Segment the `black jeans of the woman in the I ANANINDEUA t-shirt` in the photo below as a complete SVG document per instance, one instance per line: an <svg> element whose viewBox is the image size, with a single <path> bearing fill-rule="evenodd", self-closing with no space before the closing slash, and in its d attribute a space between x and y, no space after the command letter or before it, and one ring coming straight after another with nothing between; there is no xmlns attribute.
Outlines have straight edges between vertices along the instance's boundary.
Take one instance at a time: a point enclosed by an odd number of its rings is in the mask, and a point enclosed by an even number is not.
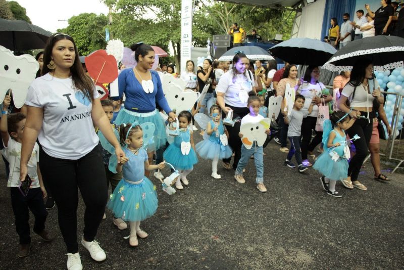
<svg viewBox="0 0 404 270"><path fill-rule="evenodd" d="M86 206L84 240L94 240L107 204L107 177L101 153L94 148L82 158L71 160L51 157L41 150L40 157L42 175L48 179L58 205L59 227L67 252L77 253L77 187Z"/></svg>

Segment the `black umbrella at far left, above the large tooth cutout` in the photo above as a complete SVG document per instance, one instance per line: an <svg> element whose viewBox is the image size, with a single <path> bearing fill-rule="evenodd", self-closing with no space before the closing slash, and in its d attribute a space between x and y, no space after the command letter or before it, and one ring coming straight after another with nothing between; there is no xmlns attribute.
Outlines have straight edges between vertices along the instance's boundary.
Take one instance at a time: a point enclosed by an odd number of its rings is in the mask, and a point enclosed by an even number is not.
<svg viewBox="0 0 404 270"><path fill-rule="evenodd" d="M11 51L26 51L43 49L51 32L23 20L0 19L0 36L1 46Z"/></svg>

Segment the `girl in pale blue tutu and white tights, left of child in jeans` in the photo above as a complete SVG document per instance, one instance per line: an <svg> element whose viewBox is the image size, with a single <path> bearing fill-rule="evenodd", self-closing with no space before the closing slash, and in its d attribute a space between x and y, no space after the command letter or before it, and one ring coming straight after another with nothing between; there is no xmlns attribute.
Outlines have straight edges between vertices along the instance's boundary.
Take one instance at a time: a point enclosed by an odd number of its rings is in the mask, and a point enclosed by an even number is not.
<svg viewBox="0 0 404 270"><path fill-rule="evenodd" d="M212 177L220 179L218 174L219 159L229 158L233 151L227 144L227 135L223 122L220 119L222 111L219 106L212 105L211 107L212 120L208 123L206 133L210 135L209 139L196 144L196 152L205 159L212 159ZM226 138L224 138L226 137Z"/></svg>

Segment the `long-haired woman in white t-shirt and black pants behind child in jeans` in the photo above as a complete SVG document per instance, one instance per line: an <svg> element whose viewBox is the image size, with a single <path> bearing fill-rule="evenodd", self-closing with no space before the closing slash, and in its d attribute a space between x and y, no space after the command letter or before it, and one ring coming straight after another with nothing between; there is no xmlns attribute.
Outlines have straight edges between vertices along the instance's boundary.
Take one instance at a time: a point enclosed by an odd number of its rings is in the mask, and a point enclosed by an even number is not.
<svg viewBox="0 0 404 270"><path fill-rule="evenodd" d="M241 157L241 140L238 137L240 131L240 120L248 114L247 100L248 92L254 87L254 80L247 75L248 59L243 53L237 53L233 58L232 69L224 73L220 78L219 84L216 86L217 101L222 109L223 118L229 110L233 110L234 126L226 125L229 132L229 145L234 151L233 168L237 168L238 161ZM230 160L223 159L223 166L230 169Z"/></svg>

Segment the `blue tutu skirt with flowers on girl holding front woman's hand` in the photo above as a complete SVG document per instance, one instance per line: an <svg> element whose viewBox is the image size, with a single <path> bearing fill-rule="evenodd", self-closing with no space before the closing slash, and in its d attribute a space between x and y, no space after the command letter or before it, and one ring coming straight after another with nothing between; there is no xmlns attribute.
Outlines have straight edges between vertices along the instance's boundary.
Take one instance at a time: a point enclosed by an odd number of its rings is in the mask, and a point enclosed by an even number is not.
<svg viewBox="0 0 404 270"><path fill-rule="evenodd" d="M140 184L122 179L110 195L107 207L125 221L141 221L156 213L158 202L156 186L144 176Z"/></svg>

